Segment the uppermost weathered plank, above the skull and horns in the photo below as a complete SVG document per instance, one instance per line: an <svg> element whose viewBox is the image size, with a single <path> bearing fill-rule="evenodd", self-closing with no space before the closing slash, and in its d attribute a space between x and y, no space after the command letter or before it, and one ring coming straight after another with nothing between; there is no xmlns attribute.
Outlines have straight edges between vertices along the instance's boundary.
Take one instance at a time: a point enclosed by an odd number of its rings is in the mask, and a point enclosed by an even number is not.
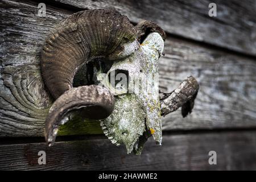
<svg viewBox="0 0 256 182"><path fill-rule="evenodd" d="M55 0L81 9L114 7L130 20L158 23L166 32L200 42L256 55L256 2L251 1L93 1ZM217 16L208 15L216 3Z"/></svg>

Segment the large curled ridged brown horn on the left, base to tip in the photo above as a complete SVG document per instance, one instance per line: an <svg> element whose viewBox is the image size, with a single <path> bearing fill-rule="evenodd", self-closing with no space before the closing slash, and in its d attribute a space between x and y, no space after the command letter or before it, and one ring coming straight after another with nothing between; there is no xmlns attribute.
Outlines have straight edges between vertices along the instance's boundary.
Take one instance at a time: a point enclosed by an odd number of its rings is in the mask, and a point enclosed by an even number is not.
<svg viewBox="0 0 256 182"><path fill-rule="evenodd" d="M112 113L114 98L107 89L96 85L73 88L73 77L90 60L116 57L112 55L120 53L123 45L135 38L135 28L126 16L104 9L75 13L49 35L41 61L44 82L57 99L46 118L49 145L70 111L82 109L89 119L104 119Z"/></svg>

